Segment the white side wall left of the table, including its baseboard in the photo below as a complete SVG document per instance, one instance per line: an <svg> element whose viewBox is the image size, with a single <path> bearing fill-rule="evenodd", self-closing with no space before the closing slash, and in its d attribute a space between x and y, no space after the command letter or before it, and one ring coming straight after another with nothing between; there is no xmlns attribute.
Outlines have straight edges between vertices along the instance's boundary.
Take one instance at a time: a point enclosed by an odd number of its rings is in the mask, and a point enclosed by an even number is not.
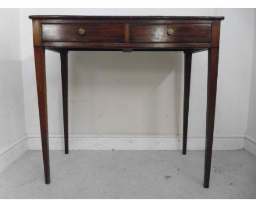
<svg viewBox="0 0 256 208"><path fill-rule="evenodd" d="M1 171L27 148L26 136L24 136L26 128L20 54L19 9L0 9L0 26Z"/></svg>

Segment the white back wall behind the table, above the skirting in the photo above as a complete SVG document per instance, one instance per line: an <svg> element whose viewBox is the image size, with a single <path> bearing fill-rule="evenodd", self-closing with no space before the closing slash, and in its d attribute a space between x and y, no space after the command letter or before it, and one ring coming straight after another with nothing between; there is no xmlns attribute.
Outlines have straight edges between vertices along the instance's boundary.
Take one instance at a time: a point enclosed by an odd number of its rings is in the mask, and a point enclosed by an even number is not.
<svg viewBox="0 0 256 208"><path fill-rule="evenodd" d="M254 13L253 9L21 9L28 137L38 138L40 133L32 21L28 15L225 16L221 27L214 133L219 138L243 139L247 127ZM74 137L181 135L183 62L184 56L179 52L69 52L69 133ZM49 134L54 137L63 134L58 53L46 52L46 77ZM198 138L205 135L206 77L207 52L196 53L192 63L188 134ZM241 145L237 148L242 148Z"/></svg>

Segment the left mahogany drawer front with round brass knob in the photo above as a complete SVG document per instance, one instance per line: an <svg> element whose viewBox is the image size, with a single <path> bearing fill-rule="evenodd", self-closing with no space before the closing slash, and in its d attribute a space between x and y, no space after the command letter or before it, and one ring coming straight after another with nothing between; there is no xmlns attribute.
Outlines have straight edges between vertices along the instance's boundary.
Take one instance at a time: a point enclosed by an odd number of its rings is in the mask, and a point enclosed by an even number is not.
<svg viewBox="0 0 256 208"><path fill-rule="evenodd" d="M124 25L42 24L42 41L124 42Z"/></svg>

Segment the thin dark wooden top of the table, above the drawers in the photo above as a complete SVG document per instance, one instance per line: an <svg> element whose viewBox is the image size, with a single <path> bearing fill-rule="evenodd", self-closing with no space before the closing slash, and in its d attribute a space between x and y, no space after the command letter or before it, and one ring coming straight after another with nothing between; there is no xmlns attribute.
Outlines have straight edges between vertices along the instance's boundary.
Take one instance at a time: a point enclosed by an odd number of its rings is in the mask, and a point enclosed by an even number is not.
<svg viewBox="0 0 256 208"><path fill-rule="evenodd" d="M147 20L224 20L224 16L82 16L82 15L30 15L30 19L147 19Z"/></svg>

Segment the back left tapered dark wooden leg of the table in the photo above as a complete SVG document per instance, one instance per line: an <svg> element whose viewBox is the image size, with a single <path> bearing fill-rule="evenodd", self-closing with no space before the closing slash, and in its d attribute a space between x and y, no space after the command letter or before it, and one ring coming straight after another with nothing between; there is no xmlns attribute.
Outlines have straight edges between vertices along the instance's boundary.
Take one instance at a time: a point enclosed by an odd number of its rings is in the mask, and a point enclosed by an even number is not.
<svg viewBox="0 0 256 208"><path fill-rule="evenodd" d="M67 52L61 52L62 105L65 154L68 154L68 58Z"/></svg>

